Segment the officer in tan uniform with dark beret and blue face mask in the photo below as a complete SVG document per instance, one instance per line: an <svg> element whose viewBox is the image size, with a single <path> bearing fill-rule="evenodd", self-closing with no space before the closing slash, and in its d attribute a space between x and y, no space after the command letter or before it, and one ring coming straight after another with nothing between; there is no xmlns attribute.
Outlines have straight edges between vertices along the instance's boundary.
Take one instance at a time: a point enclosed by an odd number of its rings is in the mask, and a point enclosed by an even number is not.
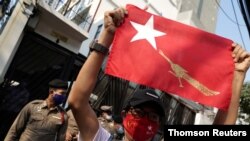
<svg viewBox="0 0 250 141"><path fill-rule="evenodd" d="M59 105L66 99L68 84L49 82L46 100L34 100L19 113L4 141L65 141L68 117Z"/></svg>

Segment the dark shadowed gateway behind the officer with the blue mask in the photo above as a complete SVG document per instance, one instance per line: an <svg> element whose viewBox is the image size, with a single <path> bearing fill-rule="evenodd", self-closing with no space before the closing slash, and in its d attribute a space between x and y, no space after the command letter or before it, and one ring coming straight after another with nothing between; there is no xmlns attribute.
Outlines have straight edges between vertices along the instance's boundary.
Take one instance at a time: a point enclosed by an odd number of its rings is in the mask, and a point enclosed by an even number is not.
<svg viewBox="0 0 250 141"><path fill-rule="evenodd" d="M47 98L49 81L74 81L85 60L34 32L26 32L0 86L0 140L23 106Z"/></svg>

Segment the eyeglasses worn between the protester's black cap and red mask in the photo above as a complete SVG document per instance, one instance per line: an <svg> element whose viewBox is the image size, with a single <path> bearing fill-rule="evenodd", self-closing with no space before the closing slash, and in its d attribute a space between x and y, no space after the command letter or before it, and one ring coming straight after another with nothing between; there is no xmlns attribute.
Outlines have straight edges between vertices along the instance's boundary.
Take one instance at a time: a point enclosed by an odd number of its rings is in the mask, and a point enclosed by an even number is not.
<svg viewBox="0 0 250 141"><path fill-rule="evenodd" d="M160 117L158 114L154 113L154 112L147 112L143 109L140 108L130 108L130 113L136 117L136 118L142 118L144 116L147 115L148 119L154 122L159 122L160 121Z"/></svg>

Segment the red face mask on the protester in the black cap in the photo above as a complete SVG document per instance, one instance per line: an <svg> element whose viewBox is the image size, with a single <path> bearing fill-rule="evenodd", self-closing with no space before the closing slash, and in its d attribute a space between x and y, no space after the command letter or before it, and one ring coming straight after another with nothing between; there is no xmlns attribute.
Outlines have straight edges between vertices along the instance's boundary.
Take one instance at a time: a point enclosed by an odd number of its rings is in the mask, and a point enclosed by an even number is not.
<svg viewBox="0 0 250 141"><path fill-rule="evenodd" d="M137 118L131 114L126 115L123 125L135 141L145 141L152 138L159 128L159 124L149 120L147 116Z"/></svg>

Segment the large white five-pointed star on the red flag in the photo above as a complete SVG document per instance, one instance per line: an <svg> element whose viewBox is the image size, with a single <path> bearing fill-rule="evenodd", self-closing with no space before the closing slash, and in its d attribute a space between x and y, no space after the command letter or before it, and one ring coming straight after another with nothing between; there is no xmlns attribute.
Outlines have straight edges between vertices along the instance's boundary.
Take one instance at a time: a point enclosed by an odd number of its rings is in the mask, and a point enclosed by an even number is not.
<svg viewBox="0 0 250 141"><path fill-rule="evenodd" d="M152 47L156 50L155 37L166 35L166 33L154 29L153 16L149 18L145 25L138 24L130 21L132 26L137 30L137 34L131 39L130 42L146 39Z"/></svg>

